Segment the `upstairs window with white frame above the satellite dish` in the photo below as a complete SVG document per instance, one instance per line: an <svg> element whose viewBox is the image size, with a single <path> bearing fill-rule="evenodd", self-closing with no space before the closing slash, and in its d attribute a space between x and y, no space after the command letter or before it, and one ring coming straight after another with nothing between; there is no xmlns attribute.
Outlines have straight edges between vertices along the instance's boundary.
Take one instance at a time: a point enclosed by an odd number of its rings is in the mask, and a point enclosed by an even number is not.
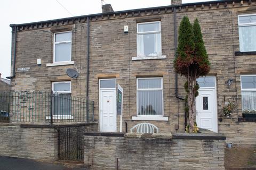
<svg viewBox="0 0 256 170"><path fill-rule="evenodd" d="M71 61L71 33L54 33L53 63Z"/></svg>

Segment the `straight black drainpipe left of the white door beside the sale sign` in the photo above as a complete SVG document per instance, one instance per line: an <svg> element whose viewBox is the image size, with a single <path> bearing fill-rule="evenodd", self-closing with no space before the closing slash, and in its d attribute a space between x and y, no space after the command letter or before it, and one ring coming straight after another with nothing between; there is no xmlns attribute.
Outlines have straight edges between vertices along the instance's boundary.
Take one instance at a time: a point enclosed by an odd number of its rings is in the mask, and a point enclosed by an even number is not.
<svg viewBox="0 0 256 170"><path fill-rule="evenodd" d="M86 78L86 120L89 121L89 59L90 59L90 23L87 17L87 78Z"/></svg>

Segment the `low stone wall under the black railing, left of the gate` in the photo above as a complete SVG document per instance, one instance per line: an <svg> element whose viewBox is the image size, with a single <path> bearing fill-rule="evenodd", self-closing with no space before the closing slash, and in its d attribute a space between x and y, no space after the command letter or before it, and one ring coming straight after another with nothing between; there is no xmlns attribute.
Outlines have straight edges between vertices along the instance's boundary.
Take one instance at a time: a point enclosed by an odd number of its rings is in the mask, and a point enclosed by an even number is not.
<svg viewBox="0 0 256 170"><path fill-rule="evenodd" d="M84 126L85 132L98 130L97 123ZM1 156L58 159L58 125L0 123L0 137Z"/></svg>

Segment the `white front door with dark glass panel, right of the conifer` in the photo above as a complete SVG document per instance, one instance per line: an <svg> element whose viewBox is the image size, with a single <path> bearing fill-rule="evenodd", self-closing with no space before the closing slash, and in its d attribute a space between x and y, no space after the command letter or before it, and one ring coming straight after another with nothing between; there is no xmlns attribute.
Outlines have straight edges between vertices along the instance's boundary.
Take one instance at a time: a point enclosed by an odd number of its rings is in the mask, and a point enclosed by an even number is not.
<svg viewBox="0 0 256 170"><path fill-rule="evenodd" d="M215 77L197 79L196 123L199 128L218 132L217 97Z"/></svg>

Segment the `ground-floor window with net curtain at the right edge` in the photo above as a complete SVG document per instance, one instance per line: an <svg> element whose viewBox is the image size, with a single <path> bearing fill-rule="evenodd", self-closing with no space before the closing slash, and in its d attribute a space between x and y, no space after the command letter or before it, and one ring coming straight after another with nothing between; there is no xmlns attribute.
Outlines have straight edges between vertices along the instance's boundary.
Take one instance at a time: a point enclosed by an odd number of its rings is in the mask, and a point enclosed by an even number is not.
<svg viewBox="0 0 256 170"><path fill-rule="evenodd" d="M256 75L241 75L243 112L256 111Z"/></svg>

